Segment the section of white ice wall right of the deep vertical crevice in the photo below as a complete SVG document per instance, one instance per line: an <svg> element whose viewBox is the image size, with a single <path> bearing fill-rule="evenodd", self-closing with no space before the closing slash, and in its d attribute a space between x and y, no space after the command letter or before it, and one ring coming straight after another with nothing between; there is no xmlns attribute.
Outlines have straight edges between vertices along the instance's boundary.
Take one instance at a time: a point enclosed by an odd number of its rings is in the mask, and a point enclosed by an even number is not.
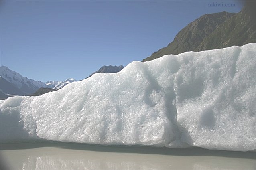
<svg viewBox="0 0 256 170"><path fill-rule="evenodd" d="M254 43L204 51L189 62L192 66L180 69L177 121L189 134L184 140L190 145L220 150L256 148L255 49ZM190 95L184 93L193 89Z"/></svg>

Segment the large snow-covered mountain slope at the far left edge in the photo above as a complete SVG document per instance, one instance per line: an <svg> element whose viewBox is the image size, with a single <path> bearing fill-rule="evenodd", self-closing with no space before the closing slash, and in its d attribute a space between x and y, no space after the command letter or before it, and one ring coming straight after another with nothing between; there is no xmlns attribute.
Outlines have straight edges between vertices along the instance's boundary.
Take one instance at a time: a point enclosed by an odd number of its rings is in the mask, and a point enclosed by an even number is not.
<svg viewBox="0 0 256 170"><path fill-rule="evenodd" d="M0 66L0 77L4 82L7 81L12 86L16 87L16 89L18 89L18 91L15 90L13 91L13 93L10 93L12 91L4 91L3 89L6 89L8 87L3 87L4 84L1 83L0 89L2 89L4 93L9 93L12 95L29 95L37 91L40 87L47 87L45 83L23 77L19 73L10 70L6 66Z"/></svg>

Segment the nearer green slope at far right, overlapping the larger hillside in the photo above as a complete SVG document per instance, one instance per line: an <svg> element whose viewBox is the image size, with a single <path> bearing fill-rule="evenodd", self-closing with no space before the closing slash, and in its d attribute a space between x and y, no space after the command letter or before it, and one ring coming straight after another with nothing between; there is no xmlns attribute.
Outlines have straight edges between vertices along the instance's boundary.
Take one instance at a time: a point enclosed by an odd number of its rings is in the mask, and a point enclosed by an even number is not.
<svg viewBox="0 0 256 170"><path fill-rule="evenodd" d="M256 42L256 22L252 20L252 17L244 8L241 12L221 24L195 50L204 51L233 45L242 46L254 42Z"/></svg>

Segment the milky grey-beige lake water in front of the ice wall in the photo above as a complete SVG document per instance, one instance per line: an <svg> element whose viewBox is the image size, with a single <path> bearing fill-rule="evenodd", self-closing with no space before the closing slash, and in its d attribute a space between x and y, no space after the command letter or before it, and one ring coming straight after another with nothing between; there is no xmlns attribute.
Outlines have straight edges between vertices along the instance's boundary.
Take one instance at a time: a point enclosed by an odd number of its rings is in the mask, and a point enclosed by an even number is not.
<svg viewBox="0 0 256 170"><path fill-rule="evenodd" d="M0 160L1 169L256 169L256 152L69 142L0 143Z"/></svg>

